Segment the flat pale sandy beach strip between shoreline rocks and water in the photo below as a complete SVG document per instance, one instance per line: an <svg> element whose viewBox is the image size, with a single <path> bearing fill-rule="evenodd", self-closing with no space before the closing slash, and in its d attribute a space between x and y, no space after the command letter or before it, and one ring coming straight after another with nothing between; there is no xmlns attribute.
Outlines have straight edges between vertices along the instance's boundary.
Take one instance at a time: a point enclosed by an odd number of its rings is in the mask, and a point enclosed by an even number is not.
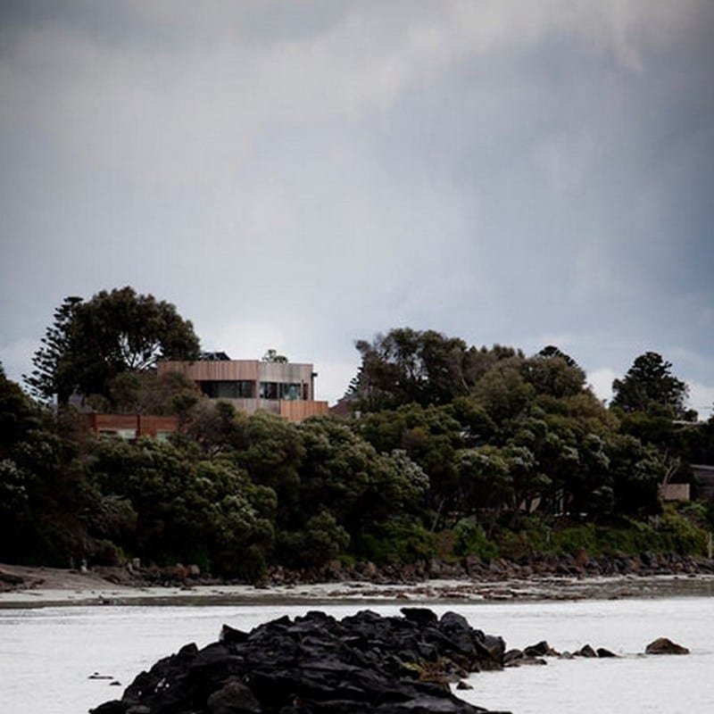
<svg viewBox="0 0 714 714"><path fill-rule="evenodd" d="M102 605L260 605L336 602L529 602L714 596L714 574L544 575L434 578L413 582L344 580L309 584L116 584L88 571L0 565L19 578L0 592L0 609ZM7 580L5 580L7 582Z"/></svg>

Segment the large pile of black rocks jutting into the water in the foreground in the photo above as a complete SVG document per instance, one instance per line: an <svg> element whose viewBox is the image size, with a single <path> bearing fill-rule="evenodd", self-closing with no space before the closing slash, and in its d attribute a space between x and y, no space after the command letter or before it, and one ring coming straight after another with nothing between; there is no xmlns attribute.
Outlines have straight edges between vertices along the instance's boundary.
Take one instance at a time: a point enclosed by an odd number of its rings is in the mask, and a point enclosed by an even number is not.
<svg viewBox="0 0 714 714"><path fill-rule="evenodd" d="M187 644L93 714L474 714L449 682L500 669L501 637L453 612L369 610L276 619L250 633L224 626L220 641Z"/></svg>

